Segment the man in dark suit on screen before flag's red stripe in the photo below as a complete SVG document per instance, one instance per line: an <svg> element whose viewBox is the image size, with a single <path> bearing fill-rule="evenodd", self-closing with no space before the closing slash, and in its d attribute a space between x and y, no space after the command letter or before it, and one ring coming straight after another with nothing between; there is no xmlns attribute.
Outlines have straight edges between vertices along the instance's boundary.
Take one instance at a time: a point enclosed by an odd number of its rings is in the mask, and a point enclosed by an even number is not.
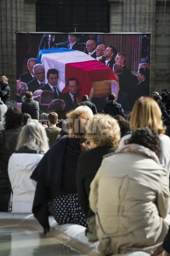
<svg viewBox="0 0 170 256"><path fill-rule="evenodd" d="M78 95L78 81L76 78L69 78L66 81L68 93L63 95L63 100L65 101L65 109L70 110L73 109L73 106L78 103L77 95Z"/></svg>

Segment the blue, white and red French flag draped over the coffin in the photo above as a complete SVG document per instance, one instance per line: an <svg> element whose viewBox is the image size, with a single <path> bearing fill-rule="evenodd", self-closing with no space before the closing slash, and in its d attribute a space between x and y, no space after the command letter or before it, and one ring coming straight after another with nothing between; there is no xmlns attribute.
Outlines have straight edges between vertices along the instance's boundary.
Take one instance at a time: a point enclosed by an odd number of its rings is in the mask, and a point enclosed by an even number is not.
<svg viewBox="0 0 170 256"><path fill-rule="evenodd" d="M70 77L76 78L79 82L79 102L82 100L82 95L90 95L94 82L116 80L111 68L78 50L67 48L40 50L37 56L38 63L45 67L45 79L49 68L58 70L58 85L63 93L68 91L66 80ZM47 79L45 82L47 83ZM108 92L105 94L105 88L102 91L103 96L108 96ZM114 93L117 94L116 92L118 93L117 86Z"/></svg>

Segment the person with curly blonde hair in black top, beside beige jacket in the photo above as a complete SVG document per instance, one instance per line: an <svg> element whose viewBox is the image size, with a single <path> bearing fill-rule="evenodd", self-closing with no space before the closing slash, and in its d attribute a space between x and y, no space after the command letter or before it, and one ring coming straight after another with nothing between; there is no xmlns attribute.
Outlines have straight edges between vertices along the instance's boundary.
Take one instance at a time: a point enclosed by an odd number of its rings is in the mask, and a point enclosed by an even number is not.
<svg viewBox="0 0 170 256"><path fill-rule="evenodd" d="M97 125L96 130L92 132L94 123ZM103 127L103 129L101 129ZM107 127L107 132L105 128ZM86 236L89 241L96 239L91 233L96 234L94 212L89 207L90 183L101 165L103 156L115 151L120 140L120 128L115 119L105 114L95 114L89 126L89 136L91 150L82 152L77 162L77 190L78 201L87 219L88 229ZM97 161L96 161L97 156Z"/></svg>

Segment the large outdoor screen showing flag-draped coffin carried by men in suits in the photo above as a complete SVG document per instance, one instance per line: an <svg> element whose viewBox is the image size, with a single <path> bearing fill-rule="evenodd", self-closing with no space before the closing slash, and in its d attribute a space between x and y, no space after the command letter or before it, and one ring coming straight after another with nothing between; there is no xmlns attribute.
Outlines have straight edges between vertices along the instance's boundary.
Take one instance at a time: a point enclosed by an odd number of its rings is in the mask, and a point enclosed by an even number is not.
<svg viewBox="0 0 170 256"><path fill-rule="evenodd" d="M53 47L48 49L52 46L49 35L50 33L16 33L16 79L27 84L26 90L32 91L33 98L39 102L42 112L73 109L72 105L75 102L70 96L70 83L66 84L67 79L70 78L76 79L77 103L82 101L83 95L88 95L97 110L104 109L110 93L116 94L116 101L122 105L124 111L130 111L138 97L149 96L150 33L74 33L74 37L77 38L76 49L75 47L69 49L68 33L54 33L55 38L51 42ZM105 45L106 53L100 61L96 59L96 50L93 56L89 55L88 49L93 47L92 40L96 42L96 47ZM87 45L89 46L86 47ZM115 50L111 48L112 46ZM108 48L109 53L107 53ZM110 53L113 53L112 61L108 64L111 60ZM100 54L98 53L98 56ZM31 76L31 67L29 70L27 68L28 60L32 58L36 59L36 64L43 65L40 72L36 71L36 77ZM113 66L115 61L116 66ZM33 63L35 64L35 61ZM120 64L123 70L118 69ZM142 64L140 70L141 72L144 70L144 74L138 71L139 64ZM53 88L54 83L49 86L51 83L51 73L50 76L47 73L49 69L50 72L51 69L58 71L58 80L52 74L57 81L57 96ZM19 87L16 91L17 106L21 108L25 91L19 93Z"/></svg>

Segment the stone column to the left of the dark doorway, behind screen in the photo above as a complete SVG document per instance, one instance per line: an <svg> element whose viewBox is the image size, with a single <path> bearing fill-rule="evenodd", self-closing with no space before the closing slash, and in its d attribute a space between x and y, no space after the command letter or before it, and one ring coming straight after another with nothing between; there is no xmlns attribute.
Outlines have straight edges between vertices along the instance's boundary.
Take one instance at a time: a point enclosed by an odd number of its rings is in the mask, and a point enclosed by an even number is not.
<svg viewBox="0 0 170 256"><path fill-rule="evenodd" d="M25 7L28 8L28 4L31 2L31 7L34 10L36 0L6 0L0 1L0 74L6 75L9 78L9 86L11 87L11 100L15 99L16 95L16 34L15 31L25 31L27 28L36 30L35 14L34 18L28 19L26 25ZM31 17L31 16L30 16ZM34 25L33 25L34 23Z"/></svg>

